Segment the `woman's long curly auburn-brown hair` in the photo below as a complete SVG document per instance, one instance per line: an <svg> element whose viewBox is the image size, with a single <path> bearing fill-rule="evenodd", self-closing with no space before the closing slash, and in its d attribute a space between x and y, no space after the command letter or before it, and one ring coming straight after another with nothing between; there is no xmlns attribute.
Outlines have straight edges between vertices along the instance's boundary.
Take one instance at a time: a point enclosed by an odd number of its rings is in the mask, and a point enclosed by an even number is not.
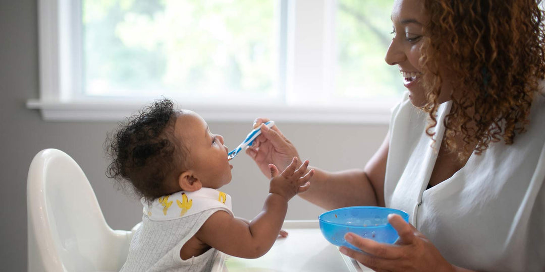
<svg viewBox="0 0 545 272"><path fill-rule="evenodd" d="M421 71L429 114L435 114L443 82L439 67L456 80L445 145L467 159L503 139L512 144L529 123L530 106L545 76L543 13L534 0L425 0ZM470 123L476 125L470 126ZM463 135L463 146L455 136Z"/></svg>

